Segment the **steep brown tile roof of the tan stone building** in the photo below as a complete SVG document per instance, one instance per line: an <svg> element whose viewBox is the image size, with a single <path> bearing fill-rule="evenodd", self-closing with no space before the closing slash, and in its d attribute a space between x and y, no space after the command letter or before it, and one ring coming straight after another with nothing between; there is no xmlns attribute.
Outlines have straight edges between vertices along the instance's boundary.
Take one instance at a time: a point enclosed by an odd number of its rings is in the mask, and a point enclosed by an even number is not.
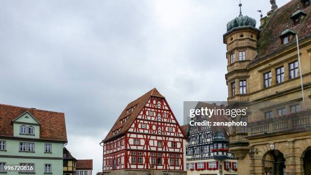
<svg viewBox="0 0 311 175"><path fill-rule="evenodd" d="M303 10L307 16L301 20L300 24L293 26L293 22L290 17L298 10L298 4L301 7L300 10ZM310 11L310 6L305 9L302 8L300 0L292 0L274 11L269 22L265 25L264 28L262 28L260 38L258 40L258 55L256 59L253 60L253 62L256 62L263 57L266 57L277 51L281 51L282 49L292 44L296 44L296 39L294 39L292 42L282 45L280 36L281 33L286 30L287 23L289 23L289 29L295 31L295 33L298 35L299 40L311 37Z"/></svg>

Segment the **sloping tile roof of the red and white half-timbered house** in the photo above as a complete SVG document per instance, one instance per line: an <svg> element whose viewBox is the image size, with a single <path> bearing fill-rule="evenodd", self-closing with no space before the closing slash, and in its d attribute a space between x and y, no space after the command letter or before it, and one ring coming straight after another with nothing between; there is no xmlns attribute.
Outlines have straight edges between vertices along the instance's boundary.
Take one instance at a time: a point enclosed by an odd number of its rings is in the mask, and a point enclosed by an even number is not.
<svg viewBox="0 0 311 175"><path fill-rule="evenodd" d="M149 92L147 92L146 94L142 95L141 97L139 97L138 99L132 101L131 103L129 103L127 105L127 107L122 111L122 113L120 114L119 118L116 120L115 124L113 125L113 127L111 128L111 130L109 131L109 133L107 134L106 138L103 140L103 142L107 142L109 141L111 138L123 135L126 131L129 130L129 128L131 127L132 123L135 121L135 119L137 118L138 114L140 113L140 111L143 109L143 107L145 106L145 104L148 102L150 97L160 97L160 98L165 98L164 96L162 96L159 91L157 89L152 89ZM127 110L135 107L135 109L130 112L127 113ZM129 119L127 120L127 122L123 122L121 124L121 120L123 118L125 118L126 116L129 116ZM117 129L120 129L120 132L118 134L113 135L113 131L116 131Z"/></svg>

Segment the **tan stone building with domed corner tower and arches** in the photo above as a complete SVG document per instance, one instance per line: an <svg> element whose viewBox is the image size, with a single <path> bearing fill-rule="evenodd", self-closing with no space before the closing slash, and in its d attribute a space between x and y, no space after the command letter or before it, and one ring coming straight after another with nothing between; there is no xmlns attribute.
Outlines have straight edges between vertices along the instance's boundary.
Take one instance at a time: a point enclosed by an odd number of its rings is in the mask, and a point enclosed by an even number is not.
<svg viewBox="0 0 311 175"><path fill-rule="evenodd" d="M259 28L240 13L224 34L228 103L248 123L230 128L229 148L239 174L311 174L310 1L270 2Z"/></svg>

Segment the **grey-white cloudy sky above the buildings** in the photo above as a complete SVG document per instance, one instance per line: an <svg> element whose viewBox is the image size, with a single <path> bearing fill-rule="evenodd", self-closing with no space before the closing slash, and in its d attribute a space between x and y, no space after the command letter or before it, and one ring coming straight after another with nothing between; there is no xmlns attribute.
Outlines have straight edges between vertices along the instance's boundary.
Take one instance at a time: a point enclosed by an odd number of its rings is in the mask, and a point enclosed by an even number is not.
<svg viewBox="0 0 311 175"><path fill-rule="evenodd" d="M277 0L281 7L289 0ZM260 23L269 0L243 0ZM123 108L156 87L179 123L183 101L222 101L235 0L1 1L0 103L65 112L68 149L102 168Z"/></svg>

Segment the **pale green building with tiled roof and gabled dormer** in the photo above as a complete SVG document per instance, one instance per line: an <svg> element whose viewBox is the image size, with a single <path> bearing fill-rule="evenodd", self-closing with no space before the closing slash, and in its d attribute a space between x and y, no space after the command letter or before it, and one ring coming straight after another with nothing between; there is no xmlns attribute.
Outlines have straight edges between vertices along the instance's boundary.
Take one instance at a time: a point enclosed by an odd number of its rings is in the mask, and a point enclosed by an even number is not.
<svg viewBox="0 0 311 175"><path fill-rule="evenodd" d="M66 143L64 113L0 104L0 174L63 174Z"/></svg>

